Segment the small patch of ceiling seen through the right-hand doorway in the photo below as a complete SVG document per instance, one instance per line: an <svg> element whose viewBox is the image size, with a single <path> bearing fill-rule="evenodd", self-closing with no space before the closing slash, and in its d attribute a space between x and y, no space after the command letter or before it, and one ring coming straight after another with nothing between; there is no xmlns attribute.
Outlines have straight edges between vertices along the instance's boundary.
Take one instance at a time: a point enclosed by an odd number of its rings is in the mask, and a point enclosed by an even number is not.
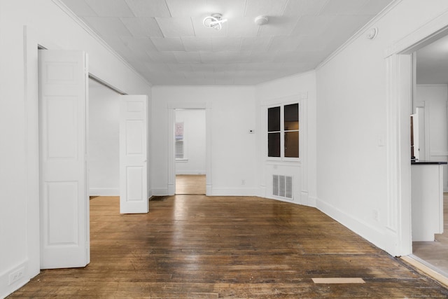
<svg viewBox="0 0 448 299"><path fill-rule="evenodd" d="M417 51L416 83L448 84L448 36Z"/></svg>

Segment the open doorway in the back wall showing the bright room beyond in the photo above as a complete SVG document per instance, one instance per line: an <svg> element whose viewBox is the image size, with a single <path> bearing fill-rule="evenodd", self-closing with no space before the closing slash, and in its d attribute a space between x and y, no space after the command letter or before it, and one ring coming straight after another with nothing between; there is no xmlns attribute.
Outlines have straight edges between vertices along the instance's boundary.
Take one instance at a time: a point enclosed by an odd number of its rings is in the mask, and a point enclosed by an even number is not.
<svg viewBox="0 0 448 299"><path fill-rule="evenodd" d="M176 195L207 193L205 109L174 109Z"/></svg>

